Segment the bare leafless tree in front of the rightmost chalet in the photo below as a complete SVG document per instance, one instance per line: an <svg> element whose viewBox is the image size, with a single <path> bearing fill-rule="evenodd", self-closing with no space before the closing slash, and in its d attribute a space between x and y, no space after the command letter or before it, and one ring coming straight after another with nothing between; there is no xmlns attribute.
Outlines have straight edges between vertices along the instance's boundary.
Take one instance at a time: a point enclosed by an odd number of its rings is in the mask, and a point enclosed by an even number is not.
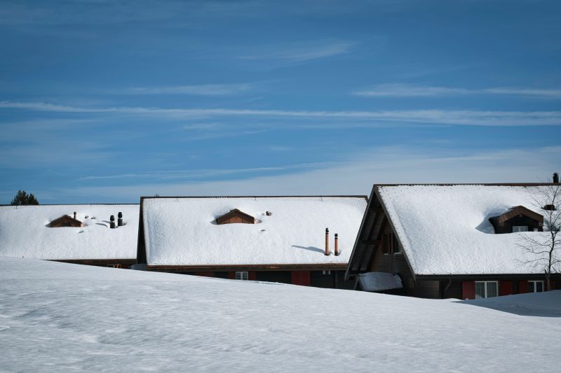
<svg viewBox="0 0 561 373"><path fill-rule="evenodd" d="M561 184L532 188L529 194L534 207L543 215L543 233L524 234L520 247L532 254L532 259L526 260L524 264L543 269L547 290L551 290L551 274L559 272L561 263Z"/></svg>

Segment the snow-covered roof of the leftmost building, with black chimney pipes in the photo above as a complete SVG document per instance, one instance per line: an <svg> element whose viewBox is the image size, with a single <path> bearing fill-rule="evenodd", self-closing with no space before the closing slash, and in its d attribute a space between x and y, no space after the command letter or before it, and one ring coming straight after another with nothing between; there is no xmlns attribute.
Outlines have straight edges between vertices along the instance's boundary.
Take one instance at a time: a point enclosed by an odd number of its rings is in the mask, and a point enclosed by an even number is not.
<svg viewBox="0 0 561 373"><path fill-rule="evenodd" d="M138 205L0 206L0 255L48 260L135 259ZM84 227L49 227L63 215ZM123 213L125 225L109 228ZM86 218L88 216L88 218Z"/></svg>

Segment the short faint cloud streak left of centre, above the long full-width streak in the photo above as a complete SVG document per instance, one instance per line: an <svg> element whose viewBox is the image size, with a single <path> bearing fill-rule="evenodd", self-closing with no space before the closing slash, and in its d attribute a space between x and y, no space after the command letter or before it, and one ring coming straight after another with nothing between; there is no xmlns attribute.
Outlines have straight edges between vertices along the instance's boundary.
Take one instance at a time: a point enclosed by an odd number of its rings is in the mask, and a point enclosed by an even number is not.
<svg viewBox="0 0 561 373"><path fill-rule="evenodd" d="M225 96L240 94L252 89L249 83L243 84L203 84L178 85L175 87L133 87L126 90L111 91L116 94L188 94L193 96Z"/></svg>

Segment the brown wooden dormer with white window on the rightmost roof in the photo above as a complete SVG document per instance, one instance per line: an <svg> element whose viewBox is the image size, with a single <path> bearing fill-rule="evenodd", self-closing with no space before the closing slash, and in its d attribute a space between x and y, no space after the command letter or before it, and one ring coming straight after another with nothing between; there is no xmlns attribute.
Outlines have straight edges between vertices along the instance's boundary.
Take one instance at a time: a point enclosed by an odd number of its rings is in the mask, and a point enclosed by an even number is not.
<svg viewBox="0 0 561 373"><path fill-rule="evenodd" d="M543 231L543 216L524 206L515 206L506 213L489 218L495 233Z"/></svg>

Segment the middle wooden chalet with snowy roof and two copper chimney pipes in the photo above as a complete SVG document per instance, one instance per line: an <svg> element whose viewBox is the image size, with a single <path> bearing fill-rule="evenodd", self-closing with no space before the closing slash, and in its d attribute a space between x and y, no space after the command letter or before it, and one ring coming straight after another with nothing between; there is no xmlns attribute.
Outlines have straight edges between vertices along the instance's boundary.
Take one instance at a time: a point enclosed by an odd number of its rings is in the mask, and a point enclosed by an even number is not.
<svg viewBox="0 0 561 373"><path fill-rule="evenodd" d="M366 196L142 197L138 267L352 288L344 271L366 204Z"/></svg>

